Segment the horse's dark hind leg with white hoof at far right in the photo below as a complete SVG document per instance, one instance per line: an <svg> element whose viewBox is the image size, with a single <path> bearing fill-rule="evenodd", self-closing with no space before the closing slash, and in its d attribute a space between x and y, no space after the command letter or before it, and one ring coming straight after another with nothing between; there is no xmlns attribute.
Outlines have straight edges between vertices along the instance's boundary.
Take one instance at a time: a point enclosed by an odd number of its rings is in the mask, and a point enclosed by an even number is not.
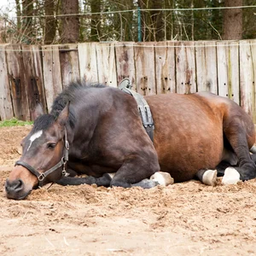
<svg viewBox="0 0 256 256"><path fill-rule="evenodd" d="M222 183L237 183L239 180L245 181L256 177L256 165L248 148L248 135L240 121L233 119L228 127L224 128L224 135L237 156L238 167L228 167L224 172Z"/></svg>

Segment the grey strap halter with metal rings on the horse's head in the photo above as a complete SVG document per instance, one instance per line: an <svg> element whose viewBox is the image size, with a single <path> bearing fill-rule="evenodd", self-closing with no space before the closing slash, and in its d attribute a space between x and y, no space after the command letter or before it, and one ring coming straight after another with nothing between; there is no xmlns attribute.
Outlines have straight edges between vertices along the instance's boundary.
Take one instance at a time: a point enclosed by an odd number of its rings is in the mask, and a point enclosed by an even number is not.
<svg viewBox="0 0 256 256"><path fill-rule="evenodd" d="M62 177L67 176L67 172L66 172L66 163L68 160L68 149L69 149L69 143L67 141L67 130L65 128L65 135L64 135L64 153L63 153L63 157L61 158L61 160L53 167L51 167L49 170L47 170L46 172L38 172L34 167L30 166L29 164L27 164L24 161L16 161L15 162L15 166L23 166L25 167L29 172L31 172L33 175L35 175L36 177L38 177L38 183L39 183L39 187L43 187L43 181L44 178L47 177L50 173L55 172L55 170L57 170L58 168L60 168L61 166L63 166L62 169Z"/></svg>

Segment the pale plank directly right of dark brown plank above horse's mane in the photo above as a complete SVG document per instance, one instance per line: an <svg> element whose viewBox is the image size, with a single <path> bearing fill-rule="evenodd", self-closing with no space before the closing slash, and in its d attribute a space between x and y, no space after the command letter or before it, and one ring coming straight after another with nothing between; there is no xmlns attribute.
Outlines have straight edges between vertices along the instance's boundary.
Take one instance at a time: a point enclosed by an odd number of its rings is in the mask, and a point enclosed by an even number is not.
<svg viewBox="0 0 256 256"><path fill-rule="evenodd" d="M98 68L96 58L96 44L78 44L80 79L88 82L98 82Z"/></svg>

